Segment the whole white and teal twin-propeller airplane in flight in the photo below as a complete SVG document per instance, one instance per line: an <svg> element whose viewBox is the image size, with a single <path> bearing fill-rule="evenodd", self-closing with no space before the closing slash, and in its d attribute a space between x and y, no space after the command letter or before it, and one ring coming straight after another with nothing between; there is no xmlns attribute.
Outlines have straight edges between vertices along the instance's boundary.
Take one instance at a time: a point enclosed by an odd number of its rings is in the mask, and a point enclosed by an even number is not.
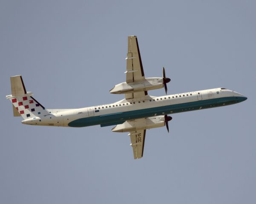
<svg viewBox="0 0 256 204"><path fill-rule="evenodd" d="M115 85L111 94L124 94L118 102L77 109L46 109L27 92L21 75L11 77L12 95L6 96L13 105L13 115L22 116L22 124L62 127L112 126L113 132L129 132L134 159L143 157L146 130L167 127L169 114L232 105L246 96L226 88L190 91L166 96L150 96L148 91L164 88L170 79L145 78L136 36L128 36L126 82Z"/></svg>

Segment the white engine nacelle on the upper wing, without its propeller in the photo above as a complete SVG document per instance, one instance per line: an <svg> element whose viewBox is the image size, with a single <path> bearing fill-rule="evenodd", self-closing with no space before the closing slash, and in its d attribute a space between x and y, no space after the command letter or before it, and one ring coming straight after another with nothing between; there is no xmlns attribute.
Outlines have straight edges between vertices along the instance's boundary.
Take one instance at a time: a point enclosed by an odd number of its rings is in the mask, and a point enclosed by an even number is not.
<svg viewBox="0 0 256 204"><path fill-rule="evenodd" d="M111 94L128 94L139 91L149 91L153 89L163 88L162 77L145 78L141 82L123 82L115 85L109 92Z"/></svg>

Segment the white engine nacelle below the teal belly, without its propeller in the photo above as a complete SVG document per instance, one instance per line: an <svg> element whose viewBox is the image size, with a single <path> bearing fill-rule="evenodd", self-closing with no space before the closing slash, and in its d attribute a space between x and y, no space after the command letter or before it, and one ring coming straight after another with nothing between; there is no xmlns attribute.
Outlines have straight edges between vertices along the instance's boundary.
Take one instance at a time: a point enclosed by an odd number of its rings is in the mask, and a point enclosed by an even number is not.
<svg viewBox="0 0 256 204"><path fill-rule="evenodd" d="M165 125L164 116L154 116L149 118L141 118L129 120L123 124L116 125L113 132L130 132L135 130L146 130L155 127L163 127Z"/></svg>

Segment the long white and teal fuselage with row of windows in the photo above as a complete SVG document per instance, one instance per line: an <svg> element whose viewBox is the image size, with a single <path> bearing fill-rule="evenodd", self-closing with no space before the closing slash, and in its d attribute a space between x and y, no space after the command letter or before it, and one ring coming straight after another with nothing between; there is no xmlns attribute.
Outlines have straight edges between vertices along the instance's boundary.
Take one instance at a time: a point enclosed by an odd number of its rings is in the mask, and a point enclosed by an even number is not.
<svg viewBox="0 0 256 204"><path fill-rule="evenodd" d="M231 105L247 98L235 91L214 88L168 96L121 101L78 109L48 109L49 114L23 120L28 125L85 127L115 125L141 117L157 116L203 108Z"/></svg>

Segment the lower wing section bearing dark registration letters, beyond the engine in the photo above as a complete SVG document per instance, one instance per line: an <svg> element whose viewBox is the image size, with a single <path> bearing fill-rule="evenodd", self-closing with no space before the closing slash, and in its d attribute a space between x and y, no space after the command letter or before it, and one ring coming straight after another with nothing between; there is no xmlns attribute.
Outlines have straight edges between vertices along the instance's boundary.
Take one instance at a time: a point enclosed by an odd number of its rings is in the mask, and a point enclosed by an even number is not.
<svg viewBox="0 0 256 204"><path fill-rule="evenodd" d="M130 132L131 146L134 159L140 159L143 156L146 130L136 130Z"/></svg>

